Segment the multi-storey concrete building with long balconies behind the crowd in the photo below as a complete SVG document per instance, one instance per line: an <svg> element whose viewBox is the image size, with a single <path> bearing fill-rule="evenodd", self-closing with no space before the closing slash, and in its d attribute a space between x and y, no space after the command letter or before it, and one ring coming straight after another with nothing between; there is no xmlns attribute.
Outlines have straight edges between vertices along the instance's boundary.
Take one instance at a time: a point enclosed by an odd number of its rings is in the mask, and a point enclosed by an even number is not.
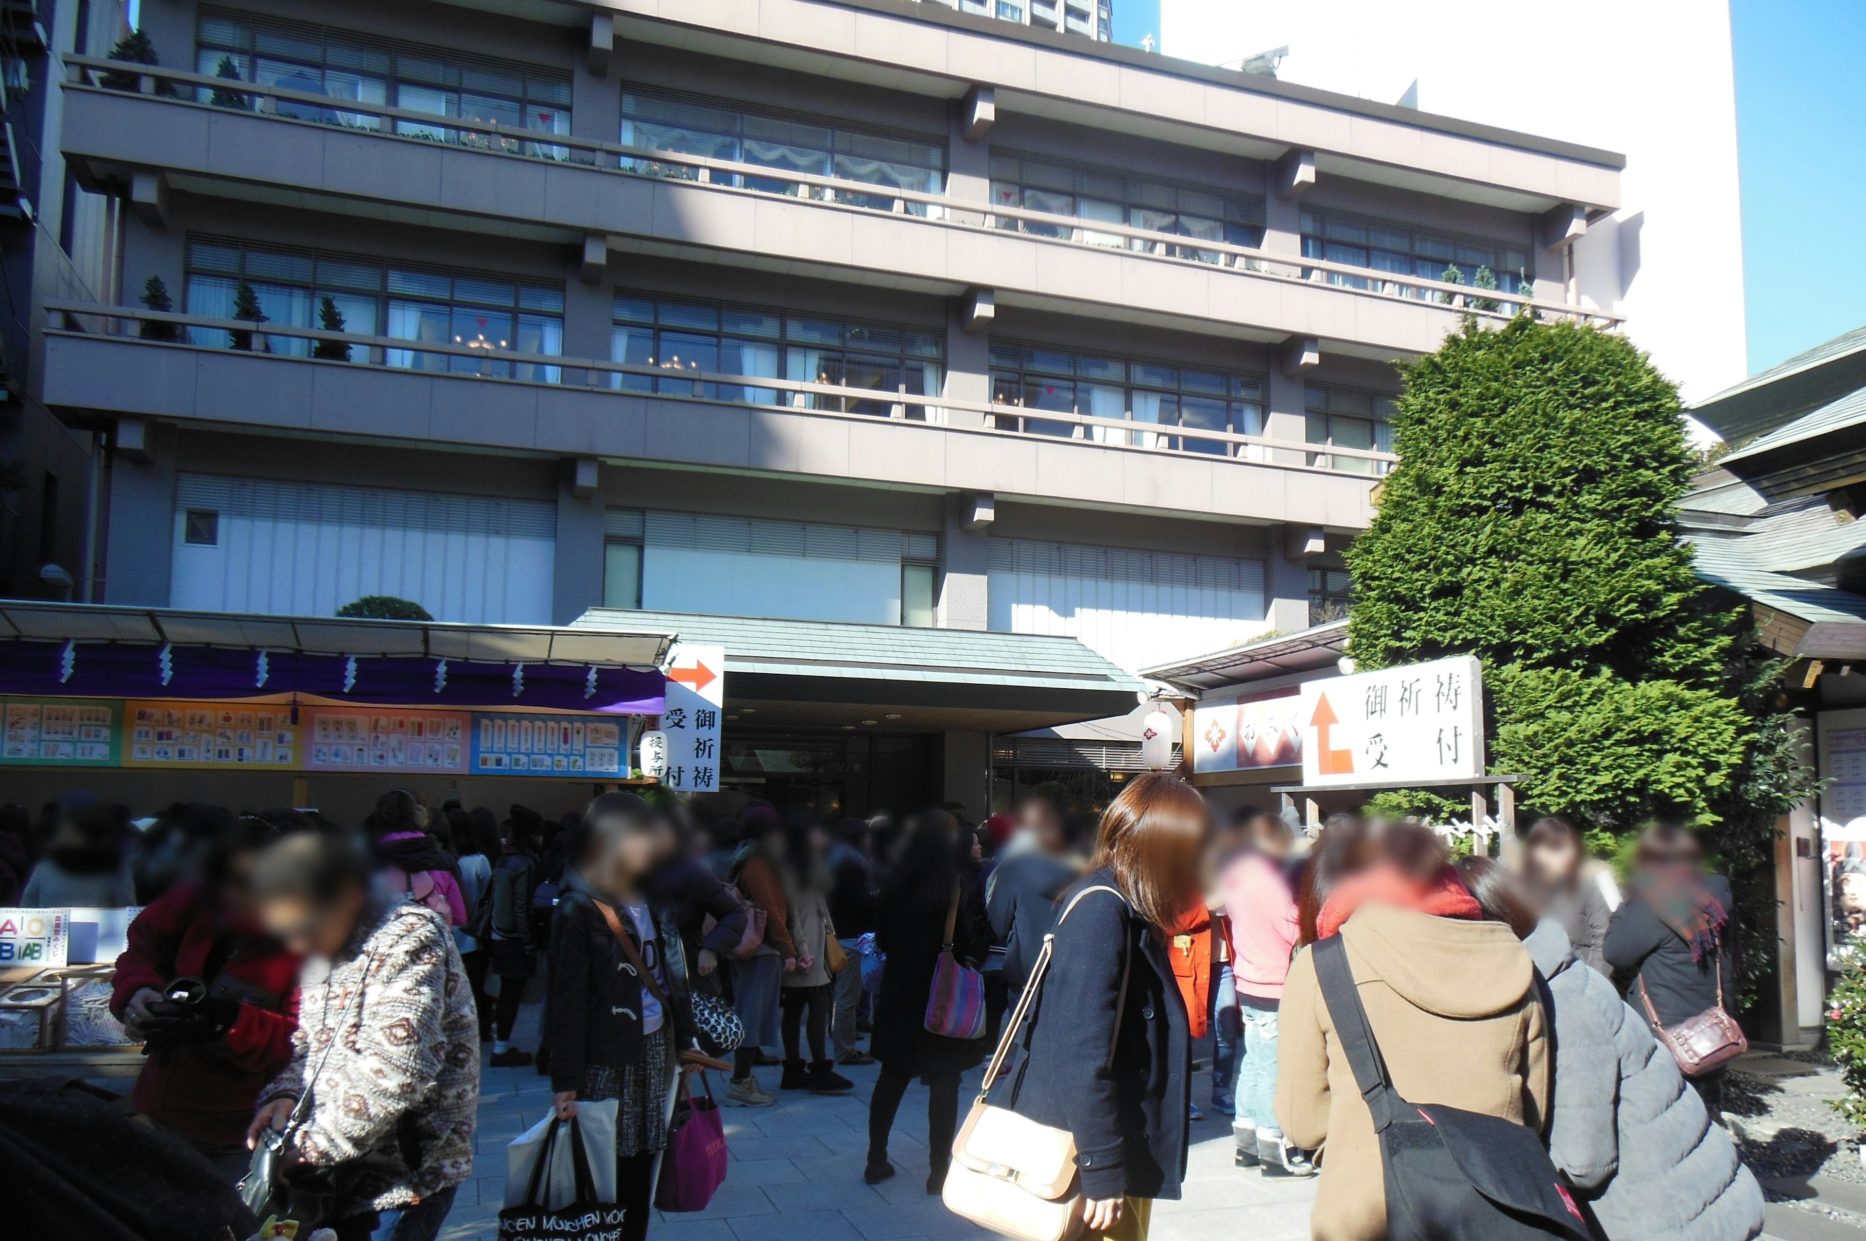
<svg viewBox="0 0 1866 1241"><path fill-rule="evenodd" d="M1618 155L970 7L146 2L49 138L121 205L34 377L90 597L646 612L728 644L728 784L978 810L991 735L1340 612L1392 362L1614 319Z"/></svg>

